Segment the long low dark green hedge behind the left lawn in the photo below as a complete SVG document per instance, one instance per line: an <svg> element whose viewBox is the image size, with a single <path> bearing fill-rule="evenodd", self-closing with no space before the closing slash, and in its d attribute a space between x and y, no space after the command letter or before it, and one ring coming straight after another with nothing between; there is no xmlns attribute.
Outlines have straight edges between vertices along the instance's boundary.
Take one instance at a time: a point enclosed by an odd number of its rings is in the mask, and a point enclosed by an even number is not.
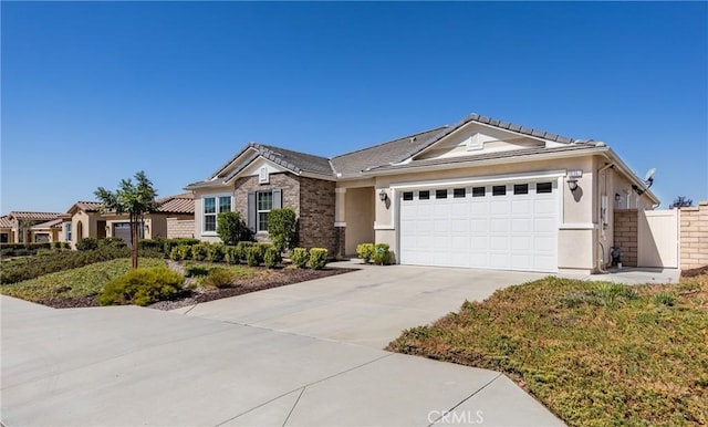
<svg viewBox="0 0 708 427"><path fill-rule="evenodd" d="M45 253L42 257L2 260L0 283L15 283L62 270L84 267L95 262L110 261L116 258L127 258L128 256L129 250L127 248L104 247L96 250L53 251L51 253ZM155 254L154 252L146 252L142 256L147 258L162 258L162 254Z"/></svg>

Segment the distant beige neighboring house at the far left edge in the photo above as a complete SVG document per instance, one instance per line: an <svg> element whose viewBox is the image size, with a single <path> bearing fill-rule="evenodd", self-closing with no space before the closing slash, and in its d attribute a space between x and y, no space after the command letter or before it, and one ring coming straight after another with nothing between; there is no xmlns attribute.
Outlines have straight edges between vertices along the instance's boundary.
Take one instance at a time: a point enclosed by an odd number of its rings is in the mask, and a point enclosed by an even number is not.
<svg viewBox="0 0 708 427"><path fill-rule="evenodd" d="M59 241L60 232L53 221L60 216L61 214L56 212L12 211L0 217L0 242L31 243Z"/></svg>

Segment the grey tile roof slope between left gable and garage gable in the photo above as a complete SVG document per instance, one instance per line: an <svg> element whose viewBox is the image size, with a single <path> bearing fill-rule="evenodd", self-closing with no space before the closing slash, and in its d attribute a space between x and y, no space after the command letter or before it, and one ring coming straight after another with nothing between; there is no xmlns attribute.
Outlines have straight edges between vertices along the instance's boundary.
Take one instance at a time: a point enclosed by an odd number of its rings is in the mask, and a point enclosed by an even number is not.
<svg viewBox="0 0 708 427"><path fill-rule="evenodd" d="M340 177L358 176L362 170L405 160L420 152L423 147L428 146L430 139L436 138L437 135L446 129L446 126L436 127L374 145L373 147L346 153L333 157L332 166Z"/></svg>

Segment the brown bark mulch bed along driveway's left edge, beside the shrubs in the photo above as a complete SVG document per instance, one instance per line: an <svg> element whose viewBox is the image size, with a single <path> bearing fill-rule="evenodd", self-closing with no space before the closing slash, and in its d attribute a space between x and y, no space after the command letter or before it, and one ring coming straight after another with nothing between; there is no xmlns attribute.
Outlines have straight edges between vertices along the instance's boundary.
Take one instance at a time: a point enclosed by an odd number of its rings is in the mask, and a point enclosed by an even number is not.
<svg viewBox="0 0 708 427"><path fill-rule="evenodd" d="M174 301L160 301L148 305L149 309L175 310L183 306L198 304L200 302L220 300L222 298L242 295L244 293L262 291L271 288L284 287L288 284L305 282L308 280L322 279L330 275L348 273L356 269L327 269L324 270L300 270L300 269L272 269L257 268L253 278L239 281L238 285L226 289L197 289L191 294ZM96 296L83 296L74 299L50 299L38 301L40 304L54 309L76 309L87 306L98 306Z"/></svg>

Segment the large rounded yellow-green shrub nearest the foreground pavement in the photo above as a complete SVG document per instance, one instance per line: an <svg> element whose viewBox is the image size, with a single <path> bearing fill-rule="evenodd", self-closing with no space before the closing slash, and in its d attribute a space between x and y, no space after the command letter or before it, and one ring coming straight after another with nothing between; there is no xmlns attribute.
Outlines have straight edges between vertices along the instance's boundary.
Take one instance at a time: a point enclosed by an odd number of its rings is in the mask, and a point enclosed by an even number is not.
<svg viewBox="0 0 708 427"><path fill-rule="evenodd" d="M97 296L101 305L147 305L181 295L185 278L166 268L135 269L106 283Z"/></svg>

